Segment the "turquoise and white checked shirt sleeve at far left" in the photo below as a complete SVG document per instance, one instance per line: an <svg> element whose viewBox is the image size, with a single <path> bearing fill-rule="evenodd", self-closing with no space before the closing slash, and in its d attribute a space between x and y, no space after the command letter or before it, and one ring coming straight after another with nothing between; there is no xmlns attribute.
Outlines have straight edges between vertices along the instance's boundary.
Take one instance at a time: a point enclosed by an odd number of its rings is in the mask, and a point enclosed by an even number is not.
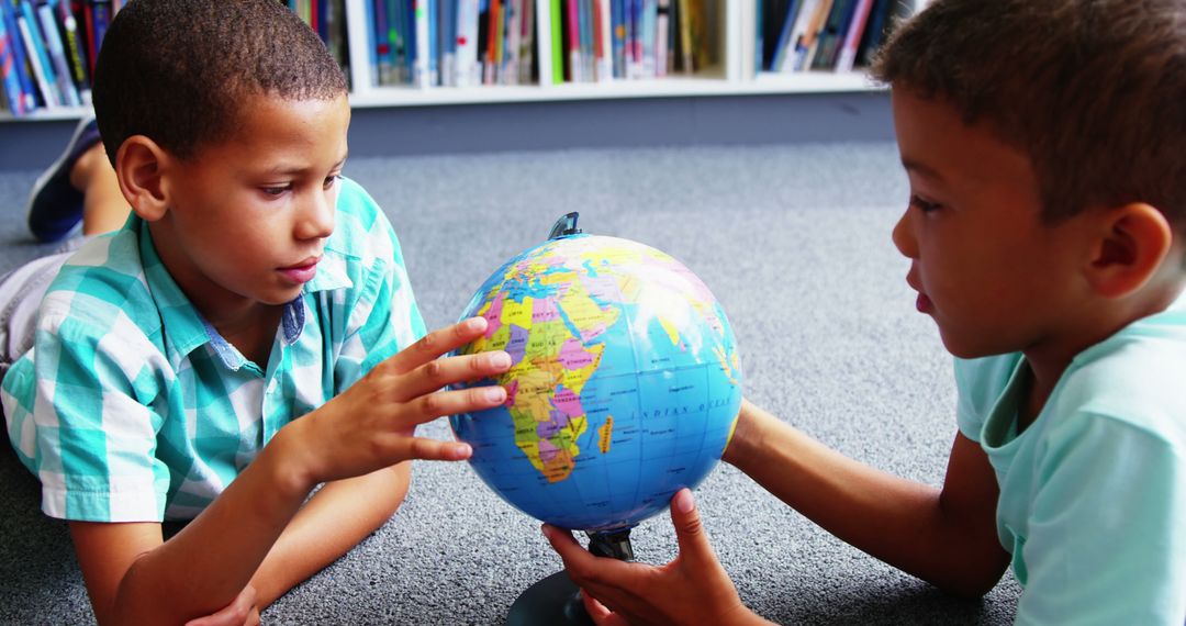
<svg viewBox="0 0 1186 626"><path fill-rule="evenodd" d="M160 522L170 485L157 458L161 419L142 400L157 384L158 354L129 321L98 328L44 317L36 337L31 417L42 509L85 522ZM136 345L140 341L144 345Z"/></svg>

